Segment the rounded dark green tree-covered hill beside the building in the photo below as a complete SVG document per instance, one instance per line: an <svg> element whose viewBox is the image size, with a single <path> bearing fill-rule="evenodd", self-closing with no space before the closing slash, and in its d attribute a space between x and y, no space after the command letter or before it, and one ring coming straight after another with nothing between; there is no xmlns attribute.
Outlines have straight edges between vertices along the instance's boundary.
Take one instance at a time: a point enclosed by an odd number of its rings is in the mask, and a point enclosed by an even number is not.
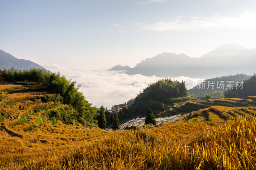
<svg viewBox="0 0 256 170"><path fill-rule="evenodd" d="M183 81L180 83L168 78L161 79L143 89L134 99L134 103L118 114L118 118L126 120L138 116L145 117L149 108L156 114L164 109L164 104L186 97L190 98Z"/></svg>

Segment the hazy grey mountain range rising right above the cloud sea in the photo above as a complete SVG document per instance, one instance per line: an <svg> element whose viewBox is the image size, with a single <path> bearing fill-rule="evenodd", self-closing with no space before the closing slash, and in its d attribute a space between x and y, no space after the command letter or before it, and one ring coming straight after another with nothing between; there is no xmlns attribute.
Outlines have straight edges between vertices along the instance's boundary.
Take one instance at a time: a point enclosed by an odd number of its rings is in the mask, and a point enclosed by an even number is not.
<svg viewBox="0 0 256 170"><path fill-rule="evenodd" d="M127 74L145 76L211 78L222 75L256 71L256 48L247 49L239 44L224 44L200 58L183 53L162 53L146 58L131 68Z"/></svg>

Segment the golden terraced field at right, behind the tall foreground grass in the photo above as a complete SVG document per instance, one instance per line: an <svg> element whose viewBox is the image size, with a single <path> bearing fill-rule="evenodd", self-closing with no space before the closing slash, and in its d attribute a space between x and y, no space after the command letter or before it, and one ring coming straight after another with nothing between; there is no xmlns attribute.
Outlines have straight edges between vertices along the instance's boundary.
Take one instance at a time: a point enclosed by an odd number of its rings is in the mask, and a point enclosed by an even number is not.
<svg viewBox="0 0 256 170"><path fill-rule="evenodd" d="M244 106L244 107L242 107ZM181 122L212 122L236 119L238 116L254 117L256 115L256 97L245 99L216 99L207 101L189 101L184 105L186 109L194 109L183 115L177 121Z"/></svg>

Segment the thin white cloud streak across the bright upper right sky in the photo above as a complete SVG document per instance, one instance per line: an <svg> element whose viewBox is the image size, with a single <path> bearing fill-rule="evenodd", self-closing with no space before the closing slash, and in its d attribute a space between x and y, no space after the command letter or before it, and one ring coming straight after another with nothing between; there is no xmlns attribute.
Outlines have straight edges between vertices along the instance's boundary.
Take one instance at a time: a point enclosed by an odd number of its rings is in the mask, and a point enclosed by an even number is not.
<svg viewBox="0 0 256 170"><path fill-rule="evenodd" d="M196 30L204 28L236 28L255 30L256 13L245 11L238 16L222 16L215 14L212 17L175 17L168 21L160 21L153 24L137 23L140 28L153 31L169 30Z"/></svg>

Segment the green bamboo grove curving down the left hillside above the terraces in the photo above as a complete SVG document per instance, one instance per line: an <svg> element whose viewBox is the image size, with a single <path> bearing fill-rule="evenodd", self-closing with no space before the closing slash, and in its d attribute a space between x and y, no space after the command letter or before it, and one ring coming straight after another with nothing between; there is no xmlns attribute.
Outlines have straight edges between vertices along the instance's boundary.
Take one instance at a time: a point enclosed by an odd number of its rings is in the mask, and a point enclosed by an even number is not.
<svg viewBox="0 0 256 170"><path fill-rule="evenodd" d="M55 74L44 69L35 68L23 71L12 68L0 70L1 79L19 85L40 84L45 87L45 91L56 94L56 98L60 103L70 107L71 110L65 113L67 115L62 115L61 117L71 116L75 122L83 125L92 126L97 123L95 107L92 107L92 104L85 99L83 93L78 91L81 85L76 85L76 81L67 80L64 76L60 76L60 73ZM58 119L58 116L53 117Z"/></svg>

